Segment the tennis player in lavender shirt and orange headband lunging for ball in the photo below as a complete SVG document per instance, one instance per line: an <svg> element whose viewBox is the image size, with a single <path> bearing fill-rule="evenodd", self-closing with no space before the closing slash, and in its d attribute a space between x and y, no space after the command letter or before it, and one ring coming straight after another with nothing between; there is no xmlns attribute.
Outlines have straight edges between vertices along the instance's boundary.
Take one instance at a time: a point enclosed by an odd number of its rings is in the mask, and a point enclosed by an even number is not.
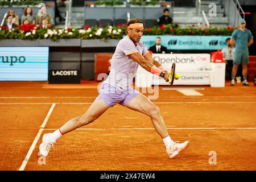
<svg viewBox="0 0 256 182"><path fill-rule="evenodd" d="M69 120L53 133L43 135L43 142L39 147L42 155L47 156L56 140L62 135L95 121L109 107L113 107L116 104L148 115L156 132L162 137L163 143L166 146L166 152L171 159L188 146L188 141L177 143L171 139L163 118L160 115L159 107L154 105L142 93L131 88L138 65L141 65L141 67L152 74L163 77L167 82L170 79L173 82L173 78L169 76L169 73L158 61L152 58L146 46L140 42L143 30L141 20L129 20L127 23L127 36L117 44L112 57L110 74L102 83L98 97L84 115ZM171 75L172 77L174 76L173 74Z"/></svg>

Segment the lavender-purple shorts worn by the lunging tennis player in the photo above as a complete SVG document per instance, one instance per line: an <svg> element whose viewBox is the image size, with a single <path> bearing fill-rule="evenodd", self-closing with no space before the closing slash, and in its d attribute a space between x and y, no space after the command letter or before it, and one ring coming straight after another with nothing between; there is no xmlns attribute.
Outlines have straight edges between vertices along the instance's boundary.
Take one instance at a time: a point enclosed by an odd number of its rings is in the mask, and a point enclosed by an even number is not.
<svg viewBox="0 0 256 182"><path fill-rule="evenodd" d="M99 92L100 94L96 98L96 101L103 100L108 107L113 107L116 104L125 106L127 102L131 101L139 94L139 92L133 88L122 92L115 89L114 86L105 83L101 85Z"/></svg>

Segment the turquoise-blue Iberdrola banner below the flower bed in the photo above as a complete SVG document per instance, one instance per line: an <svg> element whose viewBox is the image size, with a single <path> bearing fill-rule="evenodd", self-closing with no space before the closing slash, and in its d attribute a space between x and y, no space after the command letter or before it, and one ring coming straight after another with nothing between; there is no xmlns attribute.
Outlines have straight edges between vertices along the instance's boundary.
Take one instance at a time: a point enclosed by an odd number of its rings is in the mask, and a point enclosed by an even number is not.
<svg viewBox="0 0 256 182"><path fill-rule="evenodd" d="M230 36L143 35L141 41L149 49L155 45L157 37L170 50L217 50L226 47L226 39Z"/></svg>

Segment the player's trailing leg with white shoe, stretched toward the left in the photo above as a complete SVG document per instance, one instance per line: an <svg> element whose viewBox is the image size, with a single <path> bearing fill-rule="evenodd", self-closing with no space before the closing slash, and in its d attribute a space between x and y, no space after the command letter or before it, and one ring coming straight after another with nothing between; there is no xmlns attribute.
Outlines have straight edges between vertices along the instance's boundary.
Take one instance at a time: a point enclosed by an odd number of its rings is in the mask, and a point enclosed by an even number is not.
<svg viewBox="0 0 256 182"><path fill-rule="evenodd" d="M53 133L44 134L43 142L39 146L40 153L44 156L47 156L49 150L51 150L56 140L59 139L62 135L69 133L81 126L88 125L100 117L106 110L108 110L108 108L109 107L103 100L96 100L84 115L69 120L67 123L61 126L60 129L54 131Z"/></svg>

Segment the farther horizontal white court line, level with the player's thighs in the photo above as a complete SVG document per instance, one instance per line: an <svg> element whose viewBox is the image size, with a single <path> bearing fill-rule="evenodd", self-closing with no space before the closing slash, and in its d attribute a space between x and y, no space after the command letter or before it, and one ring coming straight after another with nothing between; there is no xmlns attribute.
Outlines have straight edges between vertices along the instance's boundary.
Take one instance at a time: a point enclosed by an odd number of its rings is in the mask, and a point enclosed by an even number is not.
<svg viewBox="0 0 256 182"><path fill-rule="evenodd" d="M88 105L93 102L59 102L57 105ZM153 102L154 104L256 104L256 102ZM53 102L1 102L0 105L47 105Z"/></svg>

